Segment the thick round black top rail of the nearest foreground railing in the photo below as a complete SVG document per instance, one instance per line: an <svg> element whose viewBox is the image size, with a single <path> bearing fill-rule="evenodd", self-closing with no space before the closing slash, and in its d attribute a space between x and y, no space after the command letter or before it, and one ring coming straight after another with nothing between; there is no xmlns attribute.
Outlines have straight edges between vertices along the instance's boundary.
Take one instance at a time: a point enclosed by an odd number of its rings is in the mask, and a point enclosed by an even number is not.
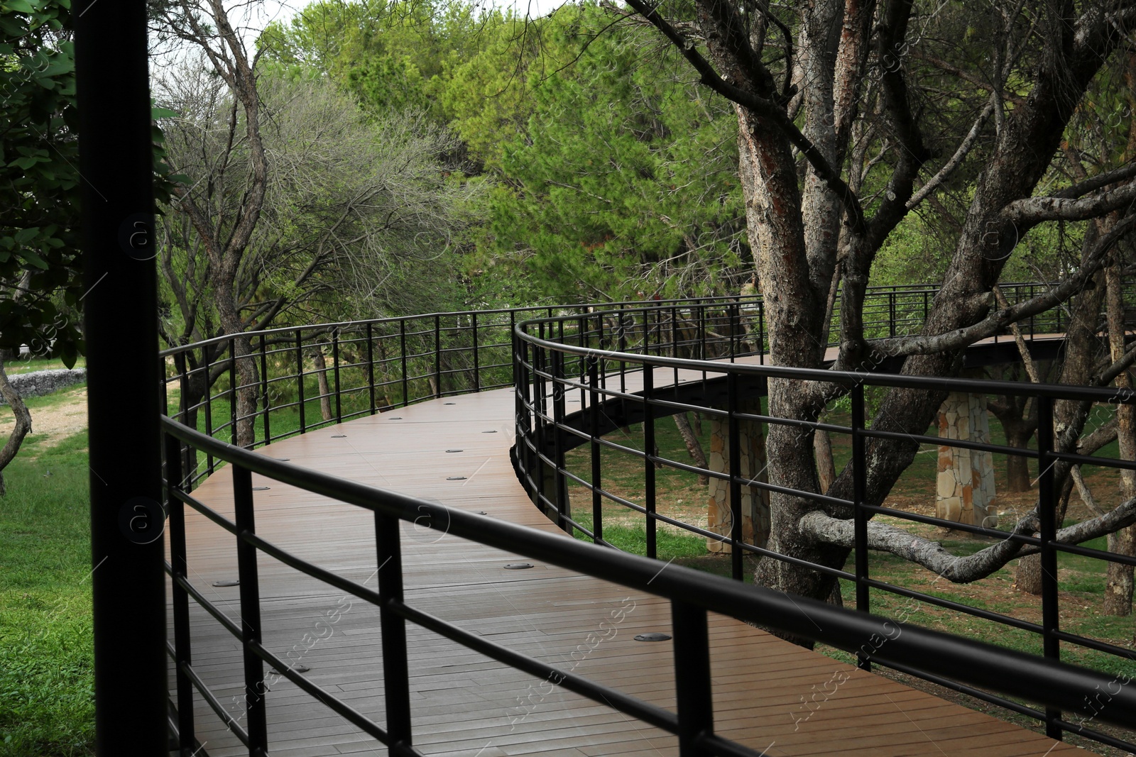
<svg viewBox="0 0 1136 757"><path fill-rule="evenodd" d="M837 648L853 650L850 640L882 633L894 622L826 603L796 599L763 587L746 586L685 566L658 570L659 563L615 549L604 549L578 539L567 539L513 523L481 518L460 510L339 479L212 439L169 418L161 428L175 438L252 472L267 476L314 494L358 505L373 512L431 525L446 522L458 538L546 561L568 570L594 575L623 586L687 602L743 621L777 628ZM245 539L251 539L249 535ZM808 612L805 612L808 607ZM1084 695L1108 683L1102 674L1064 663L1037 658L971 639L914 625L900 624L903 634L888 645L888 658L919 665L927 673L953 675L962 682L984 685L1003 693L1037 701L1049 707L1077 710ZM1102 718L1119 725L1136 725L1136 690L1117 695L1121 706Z"/></svg>

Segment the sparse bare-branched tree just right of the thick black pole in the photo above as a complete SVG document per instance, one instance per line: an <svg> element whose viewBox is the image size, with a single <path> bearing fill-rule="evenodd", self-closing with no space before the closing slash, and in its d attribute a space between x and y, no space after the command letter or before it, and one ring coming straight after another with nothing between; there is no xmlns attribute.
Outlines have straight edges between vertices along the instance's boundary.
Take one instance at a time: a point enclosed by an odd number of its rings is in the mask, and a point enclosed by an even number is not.
<svg viewBox="0 0 1136 757"><path fill-rule="evenodd" d="M367 119L331 81L258 65L219 2L204 18L189 6L166 15L202 58L161 81L167 151L184 176L164 226L161 268L176 304L164 336L236 335L235 441L248 446L257 367L244 333L289 317L416 308L411 298L445 279L437 260L475 217L478 186L444 162L452 137L421 115ZM222 350L191 355L187 368ZM186 404L220 372L194 373Z"/></svg>

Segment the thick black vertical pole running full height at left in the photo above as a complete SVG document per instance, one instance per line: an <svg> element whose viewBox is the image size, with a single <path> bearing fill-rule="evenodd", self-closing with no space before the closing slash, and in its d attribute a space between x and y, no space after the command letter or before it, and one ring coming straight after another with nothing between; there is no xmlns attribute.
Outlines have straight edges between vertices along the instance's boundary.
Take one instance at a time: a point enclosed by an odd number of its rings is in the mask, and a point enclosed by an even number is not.
<svg viewBox="0 0 1136 757"><path fill-rule="evenodd" d="M165 756L161 372L145 3L82 1L74 10L95 754Z"/></svg>

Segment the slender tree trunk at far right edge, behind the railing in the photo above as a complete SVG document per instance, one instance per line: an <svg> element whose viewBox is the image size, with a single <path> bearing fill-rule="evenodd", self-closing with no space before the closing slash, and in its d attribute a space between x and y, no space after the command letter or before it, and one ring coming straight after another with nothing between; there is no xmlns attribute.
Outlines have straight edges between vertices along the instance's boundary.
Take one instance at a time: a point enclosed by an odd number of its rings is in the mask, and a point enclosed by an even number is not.
<svg viewBox="0 0 1136 757"><path fill-rule="evenodd" d="M1121 292L1120 261L1113 260L1105 271L1108 281L1108 316L1109 348L1113 361L1120 360L1125 353L1125 302ZM1117 390L1130 388L1128 371L1117 377ZM1127 403L1117 405L1117 445L1120 460L1136 460L1136 407ZM1136 496L1136 471L1120 471L1120 502ZM1134 527L1120 529L1109 535L1109 552L1131 556L1134 547ZM1106 615L1125 616L1133 612L1133 566L1120 563L1109 563L1108 579L1104 587L1104 613Z"/></svg>

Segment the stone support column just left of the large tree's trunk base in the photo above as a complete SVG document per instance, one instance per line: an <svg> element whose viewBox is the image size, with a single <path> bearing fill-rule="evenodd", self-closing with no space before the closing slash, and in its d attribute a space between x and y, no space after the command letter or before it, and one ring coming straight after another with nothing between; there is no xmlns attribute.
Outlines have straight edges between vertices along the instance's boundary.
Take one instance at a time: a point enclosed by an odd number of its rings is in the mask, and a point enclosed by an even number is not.
<svg viewBox="0 0 1136 757"><path fill-rule="evenodd" d="M743 413L760 413L757 401L743 402L737 407ZM766 470L766 436L762 424L753 421L738 421L738 448L741 451L742 478L751 481L767 482ZM710 421L710 459L711 471L729 472L729 421L725 418L713 418ZM729 538L733 518L729 508L729 481L711 478L708 486L709 520L707 530L721 533ZM769 540L769 490L755 486L742 487L742 538L759 547ZM707 538L707 549L712 553L729 554L728 541Z"/></svg>

